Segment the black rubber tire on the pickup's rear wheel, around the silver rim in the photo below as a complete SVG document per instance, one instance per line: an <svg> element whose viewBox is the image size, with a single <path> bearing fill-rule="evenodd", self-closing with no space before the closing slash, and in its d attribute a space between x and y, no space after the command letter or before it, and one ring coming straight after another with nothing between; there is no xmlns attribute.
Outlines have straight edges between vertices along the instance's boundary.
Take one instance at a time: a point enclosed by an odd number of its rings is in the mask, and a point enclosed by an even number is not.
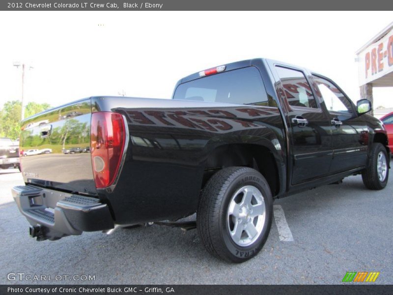
<svg viewBox="0 0 393 295"><path fill-rule="evenodd" d="M260 191L265 216L259 236L250 245L240 246L230 236L227 214L236 192L245 186L253 186ZM197 229L210 254L228 262L242 263L262 249L269 236L272 217L273 199L266 179L252 168L229 167L212 176L202 190L197 209Z"/></svg>

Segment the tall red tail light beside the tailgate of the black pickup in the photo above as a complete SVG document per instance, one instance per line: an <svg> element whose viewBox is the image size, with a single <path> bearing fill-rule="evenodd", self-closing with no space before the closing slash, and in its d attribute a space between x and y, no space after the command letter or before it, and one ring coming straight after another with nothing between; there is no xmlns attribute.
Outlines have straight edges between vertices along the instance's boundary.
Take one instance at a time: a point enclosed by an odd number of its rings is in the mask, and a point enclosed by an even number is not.
<svg viewBox="0 0 393 295"><path fill-rule="evenodd" d="M124 151L125 127L117 113L98 112L91 116L90 149L95 186L112 185Z"/></svg>

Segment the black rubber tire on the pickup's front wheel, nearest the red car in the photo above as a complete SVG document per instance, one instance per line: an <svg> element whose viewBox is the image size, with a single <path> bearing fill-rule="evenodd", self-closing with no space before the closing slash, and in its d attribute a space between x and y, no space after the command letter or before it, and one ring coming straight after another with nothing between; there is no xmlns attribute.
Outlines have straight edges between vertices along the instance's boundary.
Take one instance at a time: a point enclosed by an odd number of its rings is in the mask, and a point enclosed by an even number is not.
<svg viewBox="0 0 393 295"><path fill-rule="evenodd" d="M381 180L378 177L378 155L382 153L386 161L386 177ZM389 178L389 157L386 148L380 143L374 143L371 148L367 167L362 171L363 183L368 189L380 190L385 188Z"/></svg>

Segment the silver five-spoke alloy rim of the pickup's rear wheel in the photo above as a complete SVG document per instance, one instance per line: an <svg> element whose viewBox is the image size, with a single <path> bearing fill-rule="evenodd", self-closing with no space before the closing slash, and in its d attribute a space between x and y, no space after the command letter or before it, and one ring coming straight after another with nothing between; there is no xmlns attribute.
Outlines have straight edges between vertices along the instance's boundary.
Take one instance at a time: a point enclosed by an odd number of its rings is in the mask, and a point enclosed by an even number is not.
<svg viewBox="0 0 393 295"><path fill-rule="evenodd" d="M252 185L234 193L227 213L229 236L239 246L251 245L261 234L266 220L265 200Z"/></svg>

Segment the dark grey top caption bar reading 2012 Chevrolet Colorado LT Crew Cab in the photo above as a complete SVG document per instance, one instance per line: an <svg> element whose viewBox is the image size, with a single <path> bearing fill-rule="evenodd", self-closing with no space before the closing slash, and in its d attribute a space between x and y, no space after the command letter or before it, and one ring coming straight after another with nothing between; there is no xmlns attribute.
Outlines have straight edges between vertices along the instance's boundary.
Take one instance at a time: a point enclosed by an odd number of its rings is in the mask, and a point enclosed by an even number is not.
<svg viewBox="0 0 393 295"><path fill-rule="evenodd" d="M145 10L393 10L393 1L315 0L2 0L0 10L13 11L145 11ZM332 12L334 20L334 12ZM296 15L294 15L296 21ZM366 20L365 20L366 21Z"/></svg>

